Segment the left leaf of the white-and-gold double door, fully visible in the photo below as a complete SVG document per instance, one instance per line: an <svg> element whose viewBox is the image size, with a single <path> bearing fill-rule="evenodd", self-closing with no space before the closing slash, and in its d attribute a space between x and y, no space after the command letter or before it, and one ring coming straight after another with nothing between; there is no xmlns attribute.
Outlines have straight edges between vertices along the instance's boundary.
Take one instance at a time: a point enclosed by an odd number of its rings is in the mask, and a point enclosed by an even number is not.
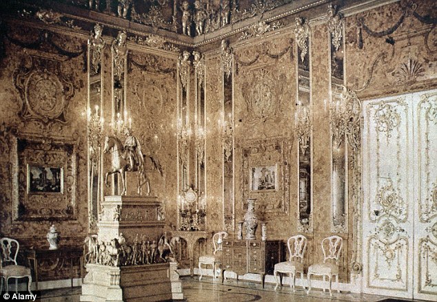
<svg viewBox="0 0 437 302"><path fill-rule="evenodd" d="M412 298L411 96L364 103L364 291Z"/></svg>

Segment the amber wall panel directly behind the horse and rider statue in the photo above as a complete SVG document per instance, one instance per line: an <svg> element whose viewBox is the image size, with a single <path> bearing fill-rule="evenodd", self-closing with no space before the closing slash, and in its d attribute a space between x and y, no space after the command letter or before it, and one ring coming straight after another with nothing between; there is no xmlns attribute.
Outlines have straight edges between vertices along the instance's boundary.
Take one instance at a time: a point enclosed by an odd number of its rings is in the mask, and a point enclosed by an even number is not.
<svg viewBox="0 0 437 302"><path fill-rule="evenodd" d="M176 153L176 59L165 54L130 50L127 80L127 110L132 131L141 142L150 177L151 195L165 206L165 220L177 225ZM161 176L150 156L159 161ZM136 174L136 173L135 173ZM133 179L132 179L133 177ZM128 194L136 194L136 175L131 176Z"/></svg>

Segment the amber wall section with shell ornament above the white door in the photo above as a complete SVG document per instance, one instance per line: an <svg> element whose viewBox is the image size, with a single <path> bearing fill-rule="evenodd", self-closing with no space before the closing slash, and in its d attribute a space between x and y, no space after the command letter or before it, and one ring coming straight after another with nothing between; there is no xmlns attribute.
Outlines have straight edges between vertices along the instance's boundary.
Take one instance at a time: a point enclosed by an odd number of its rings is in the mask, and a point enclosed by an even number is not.
<svg viewBox="0 0 437 302"><path fill-rule="evenodd" d="M414 2L417 4L415 13L422 17L429 17L429 12L437 9L435 1ZM346 19L347 83L351 89L360 91L361 98L436 86L437 29L416 18L411 5L412 2L400 1ZM396 28L403 11L407 12L406 17ZM360 49L357 36L360 19L374 32L394 32L378 37L362 30L363 47Z"/></svg>

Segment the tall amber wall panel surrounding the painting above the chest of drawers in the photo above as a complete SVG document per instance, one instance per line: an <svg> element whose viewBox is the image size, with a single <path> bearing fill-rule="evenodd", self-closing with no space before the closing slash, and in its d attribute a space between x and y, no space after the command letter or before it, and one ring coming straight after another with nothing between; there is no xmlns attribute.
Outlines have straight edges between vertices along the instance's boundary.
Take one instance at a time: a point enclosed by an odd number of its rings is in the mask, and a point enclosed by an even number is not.
<svg viewBox="0 0 437 302"><path fill-rule="evenodd" d="M290 199L297 198L297 160L291 155L296 148L292 133L296 99L294 43L292 35L285 34L254 44L235 47L236 222L243 221L245 198L258 198L256 213L261 221L268 222L267 238L285 239L290 230L297 228L294 219L289 219L297 215L296 202L290 204ZM276 146L276 153L267 150L274 149L273 140L281 144ZM250 151L255 149L259 152ZM278 154L282 160L275 158ZM255 187L251 190L252 169L274 169L275 163L277 194L263 193ZM261 230L258 232L261 237Z"/></svg>

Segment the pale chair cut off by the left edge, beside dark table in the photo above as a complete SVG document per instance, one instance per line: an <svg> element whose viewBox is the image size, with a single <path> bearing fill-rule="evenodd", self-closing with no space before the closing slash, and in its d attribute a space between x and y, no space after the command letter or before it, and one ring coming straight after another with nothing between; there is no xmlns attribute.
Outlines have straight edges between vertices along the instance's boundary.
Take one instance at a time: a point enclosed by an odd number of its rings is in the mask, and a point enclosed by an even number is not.
<svg viewBox="0 0 437 302"><path fill-rule="evenodd" d="M8 281L10 278L14 278L15 291L18 292L18 279L28 277L28 291L32 294L30 291L30 286L32 285L30 268L17 265L19 248L20 244L15 239L7 237L0 239L0 292L3 290L3 279L6 282L6 292L9 292Z"/></svg>

